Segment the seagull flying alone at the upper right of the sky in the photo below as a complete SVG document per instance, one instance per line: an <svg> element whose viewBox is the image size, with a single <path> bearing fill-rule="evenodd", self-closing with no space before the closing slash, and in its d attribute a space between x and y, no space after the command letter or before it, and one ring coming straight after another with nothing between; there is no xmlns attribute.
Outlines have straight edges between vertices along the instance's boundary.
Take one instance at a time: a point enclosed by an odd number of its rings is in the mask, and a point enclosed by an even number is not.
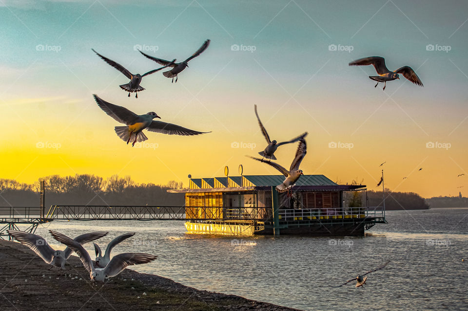
<svg viewBox="0 0 468 311"><path fill-rule="evenodd" d="M419 86L423 86L423 83L417 76L417 74L414 72L414 70L411 69L409 66L403 66L401 68L398 68L395 71L390 71L388 70L387 66L385 66L385 59L380 56L370 56L370 57L364 57L360 58L357 60L352 61L349 63L350 66L362 66L362 65L373 65L375 70L379 75L370 75L370 79L377 81L377 85L379 82L384 82L384 90L385 87L387 86L387 81L392 81L395 79L400 79L400 75L398 73L403 74L405 78L407 78L409 81L411 81L414 84L417 84Z"/></svg>

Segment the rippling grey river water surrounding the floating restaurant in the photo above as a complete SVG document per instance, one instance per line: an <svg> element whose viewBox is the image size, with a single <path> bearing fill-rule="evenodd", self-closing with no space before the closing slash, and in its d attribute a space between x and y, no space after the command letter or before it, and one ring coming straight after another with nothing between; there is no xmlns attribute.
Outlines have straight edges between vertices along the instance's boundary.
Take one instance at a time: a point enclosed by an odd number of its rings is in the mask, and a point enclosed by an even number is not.
<svg viewBox="0 0 468 311"><path fill-rule="evenodd" d="M304 310L468 310L468 209L387 212L389 224L365 237L229 237L187 234L182 221L53 221L48 229L76 237L109 231L101 248L137 234L113 254L136 251L158 259L133 269L198 289L241 295ZM61 247L63 248L63 247ZM86 249L94 257L92 243ZM375 268L368 286L331 286ZM443 284L443 286L441 286Z"/></svg>

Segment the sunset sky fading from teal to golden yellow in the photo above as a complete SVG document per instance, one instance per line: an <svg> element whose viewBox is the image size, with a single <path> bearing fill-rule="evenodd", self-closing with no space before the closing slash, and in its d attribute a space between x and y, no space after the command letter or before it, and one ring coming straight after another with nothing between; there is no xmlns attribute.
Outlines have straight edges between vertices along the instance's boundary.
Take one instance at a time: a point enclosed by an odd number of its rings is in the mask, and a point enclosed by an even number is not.
<svg viewBox="0 0 468 311"><path fill-rule="evenodd" d="M239 164L246 175L276 175L245 157L266 146L256 104L272 139L309 132L305 174L379 190L383 167L393 191L467 196L468 2L449 3L0 0L0 178L118 174L187 186L188 174L223 176L228 165L236 175ZM206 39L211 45L177 83L146 76L138 99L91 51L145 73L160 66L135 47L182 61ZM368 77L372 66L348 66L373 55L390 70L412 67L424 88L401 75L382 91ZM212 133L145 132L149 140L132 148L94 93ZM280 147L277 163L289 167L296 147Z"/></svg>

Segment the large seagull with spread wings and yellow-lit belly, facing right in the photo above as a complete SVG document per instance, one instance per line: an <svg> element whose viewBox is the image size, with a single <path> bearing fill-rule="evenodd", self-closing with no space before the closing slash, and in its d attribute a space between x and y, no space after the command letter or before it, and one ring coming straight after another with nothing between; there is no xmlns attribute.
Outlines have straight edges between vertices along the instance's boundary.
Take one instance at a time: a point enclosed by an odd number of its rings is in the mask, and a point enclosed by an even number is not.
<svg viewBox="0 0 468 311"><path fill-rule="evenodd" d="M154 118L161 118L155 112L148 112L146 114L137 115L136 113L122 107L106 102L94 94L94 99L98 106L104 110L105 113L113 117L116 121L123 123L126 127L116 127L116 133L122 140L127 141L127 145L132 137L135 137L132 146L135 143L144 142L148 139L143 134L143 129L148 129L151 132L158 132L169 135L198 135L211 132L199 132L189 128L183 128L176 124L166 123L162 121L153 121Z"/></svg>

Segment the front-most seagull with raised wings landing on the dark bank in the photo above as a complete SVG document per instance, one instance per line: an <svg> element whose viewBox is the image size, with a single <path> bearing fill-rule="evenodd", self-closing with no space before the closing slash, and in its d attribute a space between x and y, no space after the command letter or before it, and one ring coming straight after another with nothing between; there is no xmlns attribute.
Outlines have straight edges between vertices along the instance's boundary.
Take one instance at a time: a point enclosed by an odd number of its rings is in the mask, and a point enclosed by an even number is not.
<svg viewBox="0 0 468 311"><path fill-rule="evenodd" d="M83 263L83 266L86 270L88 270L92 281L104 283L106 277L116 276L130 265L148 263L156 259L155 255L150 254L123 253L114 256L105 268L95 268L89 253L84 249L83 246L81 246L81 244L59 232L50 230L50 233L56 240L70 247L75 253L78 254L79 259L81 259L81 262Z"/></svg>

